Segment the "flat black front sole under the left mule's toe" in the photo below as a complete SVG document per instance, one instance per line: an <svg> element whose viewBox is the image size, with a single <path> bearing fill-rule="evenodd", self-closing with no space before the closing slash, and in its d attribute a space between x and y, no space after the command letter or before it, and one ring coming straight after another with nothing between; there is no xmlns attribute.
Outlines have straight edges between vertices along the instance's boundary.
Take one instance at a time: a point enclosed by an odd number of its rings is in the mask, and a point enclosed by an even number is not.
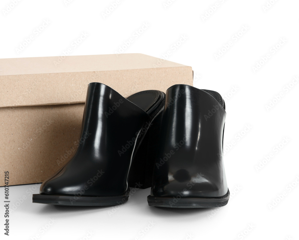
<svg viewBox="0 0 299 240"><path fill-rule="evenodd" d="M113 206L124 204L129 199L130 190L122 196L86 197L33 194L33 203L43 203L63 206Z"/></svg>

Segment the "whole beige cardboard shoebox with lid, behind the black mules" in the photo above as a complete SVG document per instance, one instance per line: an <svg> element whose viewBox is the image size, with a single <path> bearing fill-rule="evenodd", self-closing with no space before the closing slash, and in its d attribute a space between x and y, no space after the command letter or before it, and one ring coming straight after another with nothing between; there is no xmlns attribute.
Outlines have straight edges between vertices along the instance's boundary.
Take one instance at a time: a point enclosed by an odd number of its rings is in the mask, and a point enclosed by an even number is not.
<svg viewBox="0 0 299 240"><path fill-rule="evenodd" d="M128 97L192 85L193 72L144 54L0 59L0 172L9 185L42 182L71 159L90 82Z"/></svg>

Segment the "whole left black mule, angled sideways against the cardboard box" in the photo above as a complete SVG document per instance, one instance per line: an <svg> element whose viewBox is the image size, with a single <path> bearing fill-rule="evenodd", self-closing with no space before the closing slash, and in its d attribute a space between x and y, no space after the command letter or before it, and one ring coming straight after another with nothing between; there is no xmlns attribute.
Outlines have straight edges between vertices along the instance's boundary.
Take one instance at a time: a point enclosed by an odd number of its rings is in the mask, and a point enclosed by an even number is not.
<svg viewBox="0 0 299 240"><path fill-rule="evenodd" d="M131 162L133 187L149 182L152 176L154 159L146 157L148 142L144 140L152 141L158 135L155 131L161 127L157 124L161 123L164 104L161 91L143 91L126 99L111 87L90 83L80 133L84 140L74 157L42 183L33 202L80 206L125 203ZM156 151L153 146L151 151Z"/></svg>

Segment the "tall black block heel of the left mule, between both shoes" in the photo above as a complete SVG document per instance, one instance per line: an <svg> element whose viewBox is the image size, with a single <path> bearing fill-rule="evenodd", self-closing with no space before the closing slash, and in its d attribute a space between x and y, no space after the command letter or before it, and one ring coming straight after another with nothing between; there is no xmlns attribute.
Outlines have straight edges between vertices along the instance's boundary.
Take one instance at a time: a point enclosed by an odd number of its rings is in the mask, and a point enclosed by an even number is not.
<svg viewBox="0 0 299 240"><path fill-rule="evenodd" d="M158 151L163 109L151 122L137 152L133 154L128 179L129 187L145 189L152 186L152 173Z"/></svg>

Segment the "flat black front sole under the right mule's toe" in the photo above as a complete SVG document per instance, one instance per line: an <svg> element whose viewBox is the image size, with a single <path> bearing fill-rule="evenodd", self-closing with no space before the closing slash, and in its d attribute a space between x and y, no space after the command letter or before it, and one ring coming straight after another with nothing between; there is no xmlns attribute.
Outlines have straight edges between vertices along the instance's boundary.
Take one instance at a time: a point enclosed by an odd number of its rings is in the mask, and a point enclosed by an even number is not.
<svg viewBox="0 0 299 240"><path fill-rule="evenodd" d="M202 208L202 207L222 207L228 203L229 190L218 198L178 198L178 197L153 197L148 196L149 206L154 207L173 207L173 208Z"/></svg>

